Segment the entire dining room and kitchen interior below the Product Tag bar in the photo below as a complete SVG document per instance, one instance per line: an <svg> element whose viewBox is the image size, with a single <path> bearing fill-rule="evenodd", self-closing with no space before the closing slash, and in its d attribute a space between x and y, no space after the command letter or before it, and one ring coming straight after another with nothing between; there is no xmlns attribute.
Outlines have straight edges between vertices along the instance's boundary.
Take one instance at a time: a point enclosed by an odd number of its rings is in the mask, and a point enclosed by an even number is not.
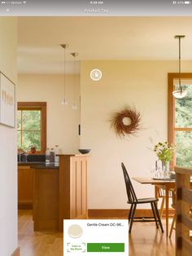
<svg viewBox="0 0 192 256"><path fill-rule="evenodd" d="M69 218L129 218L131 256L190 255L191 24L0 17L0 255L63 255Z"/></svg>

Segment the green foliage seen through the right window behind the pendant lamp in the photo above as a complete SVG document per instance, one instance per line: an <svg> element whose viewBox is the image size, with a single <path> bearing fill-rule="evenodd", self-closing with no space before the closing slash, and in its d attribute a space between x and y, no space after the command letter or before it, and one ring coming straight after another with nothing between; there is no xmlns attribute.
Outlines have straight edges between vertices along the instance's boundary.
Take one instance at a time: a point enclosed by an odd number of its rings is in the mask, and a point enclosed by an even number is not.
<svg viewBox="0 0 192 256"><path fill-rule="evenodd" d="M176 100L176 127L192 127L192 85L183 86L187 95ZM192 167L192 131L176 132L176 164L181 167Z"/></svg>

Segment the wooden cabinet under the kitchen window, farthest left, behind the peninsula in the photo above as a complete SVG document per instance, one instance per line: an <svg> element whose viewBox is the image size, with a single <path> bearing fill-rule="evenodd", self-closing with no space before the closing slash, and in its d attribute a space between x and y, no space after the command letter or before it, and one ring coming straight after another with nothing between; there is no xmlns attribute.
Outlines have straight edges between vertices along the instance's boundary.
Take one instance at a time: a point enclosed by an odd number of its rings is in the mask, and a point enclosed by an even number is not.
<svg viewBox="0 0 192 256"><path fill-rule="evenodd" d="M33 209L33 169L18 166L18 208Z"/></svg>

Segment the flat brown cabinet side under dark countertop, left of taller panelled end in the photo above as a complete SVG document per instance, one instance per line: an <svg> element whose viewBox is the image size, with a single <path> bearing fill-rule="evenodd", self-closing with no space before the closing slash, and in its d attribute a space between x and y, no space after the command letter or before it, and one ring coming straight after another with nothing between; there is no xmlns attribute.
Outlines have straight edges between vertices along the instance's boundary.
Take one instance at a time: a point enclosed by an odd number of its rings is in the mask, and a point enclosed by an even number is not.
<svg viewBox="0 0 192 256"><path fill-rule="evenodd" d="M34 231L56 231L59 229L58 173L58 169L34 169Z"/></svg>

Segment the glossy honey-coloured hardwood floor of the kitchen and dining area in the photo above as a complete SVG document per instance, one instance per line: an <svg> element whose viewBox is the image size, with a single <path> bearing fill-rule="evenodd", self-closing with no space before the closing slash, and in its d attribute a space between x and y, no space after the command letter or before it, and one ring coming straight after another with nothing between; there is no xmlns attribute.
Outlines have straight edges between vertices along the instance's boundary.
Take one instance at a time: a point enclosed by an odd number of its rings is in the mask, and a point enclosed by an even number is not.
<svg viewBox="0 0 192 256"><path fill-rule="evenodd" d="M166 237L155 223L133 223L129 256L174 256L174 236ZM33 232L32 211L19 210L19 246L20 256L63 256L63 233Z"/></svg>

